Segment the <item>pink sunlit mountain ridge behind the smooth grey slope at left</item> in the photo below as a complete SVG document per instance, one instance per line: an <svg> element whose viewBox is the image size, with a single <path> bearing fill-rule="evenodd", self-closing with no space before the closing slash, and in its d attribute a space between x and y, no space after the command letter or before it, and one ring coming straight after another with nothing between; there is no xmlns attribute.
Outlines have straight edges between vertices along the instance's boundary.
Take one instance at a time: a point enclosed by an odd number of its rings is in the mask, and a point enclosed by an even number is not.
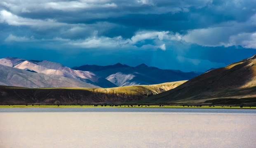
<svg viewBox="0 0 256 148"><path fill-rule="evenodd" d="M111 83L110 81L100 76L96 76L92 72L70 69L59 63L50 62L47 60L37 61L37 60L24 60L19 58L7 57L7 58L0 59L0 65L6 65L9 67L24 69L24 70L27 70L28 72L33 72L33 73L64 76L70 79L74 79L76 81L89 83L90 84L89 86L91 87L103 87L103 88L116 87L115 84ZM26 87L31 87L31 86L26 86Z"/></svg>

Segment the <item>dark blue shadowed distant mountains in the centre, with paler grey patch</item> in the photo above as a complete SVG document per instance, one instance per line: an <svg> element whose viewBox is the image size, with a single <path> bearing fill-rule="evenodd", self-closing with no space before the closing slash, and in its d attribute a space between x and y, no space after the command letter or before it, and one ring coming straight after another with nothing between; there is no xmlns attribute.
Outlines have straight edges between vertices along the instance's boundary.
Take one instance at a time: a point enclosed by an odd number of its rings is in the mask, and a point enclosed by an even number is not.
<svg viewBox="0 0 256 148"><path fill-rule="evenodd" d="M97 76L101 76L114 83L116 86L150 85L182 81L202 74L202 72L181 72L180 70L159 69L157 67L148 67L145 64L130 67L120 63L108 66L83 65L73 67L73 69L93 72Z"/></svg>

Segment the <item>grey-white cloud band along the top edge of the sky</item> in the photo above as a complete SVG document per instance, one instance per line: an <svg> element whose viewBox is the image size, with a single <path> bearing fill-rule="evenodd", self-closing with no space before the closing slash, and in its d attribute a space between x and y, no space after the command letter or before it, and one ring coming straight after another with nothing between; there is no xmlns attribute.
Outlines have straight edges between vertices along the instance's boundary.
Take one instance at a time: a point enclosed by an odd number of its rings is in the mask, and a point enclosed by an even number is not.
<svg viewBox="0 0 256 148"><path fill-rule="evenodd" d="M212 0L2 0L0 5L8 8L14 14L49 12L52 10L87 13L92 11L92 13L88 13L87 17L95 13L94 17L97 15L104 16L104 14L108 14L106 15L107 17L115 17L120 16L120 14L165 14L169 12L174 14L188 12L190 7L199 9L211 3Z"/></svg>

